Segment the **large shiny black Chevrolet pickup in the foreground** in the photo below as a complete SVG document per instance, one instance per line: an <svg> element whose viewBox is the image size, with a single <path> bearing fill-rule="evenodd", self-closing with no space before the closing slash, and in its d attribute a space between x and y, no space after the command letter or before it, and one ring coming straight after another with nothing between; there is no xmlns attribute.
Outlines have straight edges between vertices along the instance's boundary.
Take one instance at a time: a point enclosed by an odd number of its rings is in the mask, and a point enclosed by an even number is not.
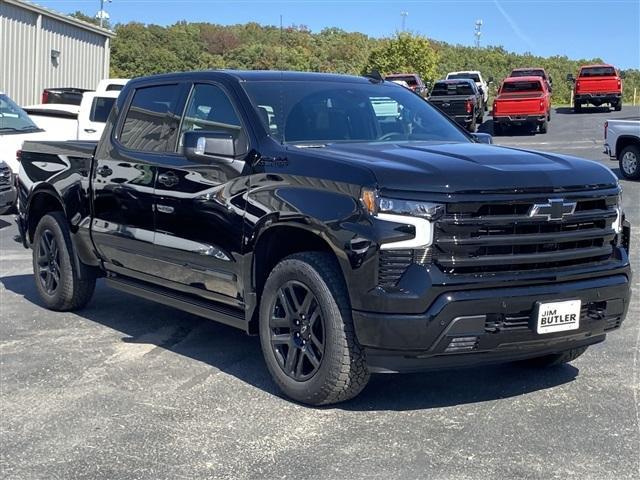
<svg viewBox="0 0 640 480"><path fill-rule="evenodd" d="M571 361L629 306L618 181L482 140L379 78L139 78L97 145L25 142L18 224L48 308L105 276L258 334L309 404L372 372Z"/></svg>

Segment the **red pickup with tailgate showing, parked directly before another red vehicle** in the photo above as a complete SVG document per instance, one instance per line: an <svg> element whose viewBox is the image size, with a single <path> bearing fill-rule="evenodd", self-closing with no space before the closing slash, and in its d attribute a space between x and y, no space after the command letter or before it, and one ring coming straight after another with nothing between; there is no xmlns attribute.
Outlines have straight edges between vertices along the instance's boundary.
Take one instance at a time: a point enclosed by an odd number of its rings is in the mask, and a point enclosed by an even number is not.
<svg viewBox="0 0 640 480"><path fill-rule="evenodd" d="M551 94L541 77L506 78L493 102L493 133L501 135L510 125L537 126L547 133L551 121Z"/></svg>

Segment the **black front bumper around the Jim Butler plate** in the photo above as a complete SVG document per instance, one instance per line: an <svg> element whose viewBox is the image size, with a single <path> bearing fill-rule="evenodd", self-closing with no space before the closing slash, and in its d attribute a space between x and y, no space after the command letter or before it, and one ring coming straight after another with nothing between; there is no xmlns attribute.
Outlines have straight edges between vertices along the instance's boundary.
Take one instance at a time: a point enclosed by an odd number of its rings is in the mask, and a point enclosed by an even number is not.
<svg viewBox="0 0 640 480"><path fill-rule="evenodd" d="M374 372L417 371L531 358L598 343L620 327L630 277L443 293L418 315L353 312ZM580 299L577 330L539 335L536 302ZM459 339L459 340L457 340Z"/></svg>

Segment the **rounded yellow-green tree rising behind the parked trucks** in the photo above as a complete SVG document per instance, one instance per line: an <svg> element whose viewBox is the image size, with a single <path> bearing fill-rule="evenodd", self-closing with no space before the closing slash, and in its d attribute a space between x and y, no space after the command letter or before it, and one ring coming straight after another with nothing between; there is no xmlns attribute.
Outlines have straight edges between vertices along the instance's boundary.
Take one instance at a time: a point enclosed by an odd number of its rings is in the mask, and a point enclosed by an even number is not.
<svg viewBox="0 0 640 480"><path fill-rule="evenodd" d="M437 79L438 60L438 52L427 38L399 33L371 52L362 73L372 69L377 69L382 75L417 73L425 82L433 82Z"/></svg>

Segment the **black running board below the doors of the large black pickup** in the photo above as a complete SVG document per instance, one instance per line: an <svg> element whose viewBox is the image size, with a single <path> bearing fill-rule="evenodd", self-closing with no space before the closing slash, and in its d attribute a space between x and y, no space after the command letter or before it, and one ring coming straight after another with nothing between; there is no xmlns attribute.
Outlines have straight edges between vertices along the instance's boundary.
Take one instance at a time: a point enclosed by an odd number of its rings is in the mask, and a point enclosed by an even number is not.
<svg viewBox="0 0 640 480"><path fill-rule="evenodd" d="M193 315L198 315L199 317L208 318L247 331L244 311L240 309L208 302L206 300L199 300L174 290L156 287L128 278L108 277L106 282L108 286L116 290L121 290L138 297L146 298L152 302L161 303L184 312L192 313Z"/></svg>

